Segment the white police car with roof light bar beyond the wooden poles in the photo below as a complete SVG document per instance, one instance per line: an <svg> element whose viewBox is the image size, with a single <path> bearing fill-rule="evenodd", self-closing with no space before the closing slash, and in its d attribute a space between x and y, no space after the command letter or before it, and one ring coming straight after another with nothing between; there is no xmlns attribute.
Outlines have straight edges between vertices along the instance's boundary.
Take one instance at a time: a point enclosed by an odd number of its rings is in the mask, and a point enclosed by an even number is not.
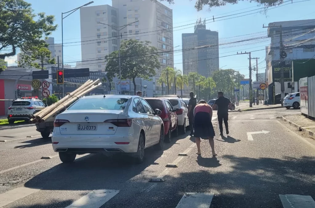
<svg viewBox="0 0 315 208"><path fill-rule="evenodd" d="M14 121L28 121L31 116L45 108L45 104L38 97L22 97L13 101L8 108L8 120L10 124Z"/></svg>

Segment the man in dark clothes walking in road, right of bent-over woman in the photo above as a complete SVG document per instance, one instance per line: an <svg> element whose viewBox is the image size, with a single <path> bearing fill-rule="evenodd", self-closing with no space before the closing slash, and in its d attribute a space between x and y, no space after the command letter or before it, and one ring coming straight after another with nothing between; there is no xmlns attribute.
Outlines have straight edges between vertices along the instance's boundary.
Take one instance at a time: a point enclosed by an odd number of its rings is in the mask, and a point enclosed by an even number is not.
<svg viewBox="0 0 315 208"><path fill-rule="evenodd" d="M212 106L213 110L218 110L218 121L220 127L220 135L223 136L223 121L226 129L226 134L229 134L229 127L228 127L228 109L231 108L232 103L231 101L223 96L223 92L218 92L218 99L215 100L215 103Z"/></svg>

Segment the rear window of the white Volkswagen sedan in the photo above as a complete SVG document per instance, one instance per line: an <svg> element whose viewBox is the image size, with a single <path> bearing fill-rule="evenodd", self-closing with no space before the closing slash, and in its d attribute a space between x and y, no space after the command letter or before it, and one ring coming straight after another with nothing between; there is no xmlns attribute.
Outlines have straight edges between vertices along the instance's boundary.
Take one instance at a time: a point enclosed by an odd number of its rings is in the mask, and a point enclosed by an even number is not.
<svg viewBox="0 0 315 208"><path fill-rule="evenodd" d="M75 102L68 110L123 110L127 98L88 98Z"/></svg>

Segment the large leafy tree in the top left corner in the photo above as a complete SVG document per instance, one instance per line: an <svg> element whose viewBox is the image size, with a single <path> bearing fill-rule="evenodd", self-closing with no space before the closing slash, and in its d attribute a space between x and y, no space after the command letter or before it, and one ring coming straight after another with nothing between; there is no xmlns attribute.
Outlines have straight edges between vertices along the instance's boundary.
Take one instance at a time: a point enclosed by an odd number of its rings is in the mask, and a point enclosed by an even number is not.
<svg viewBox="0 0 315 208"><path fill-rule="evenodd" d="M0 50L10 52L0 54L0 59L14 56L17 48L28 53L38 50L35 46L43 46L44 38L56 30L54 20L53 15L33 14L31 4L24 0L1 0Z"/></svg>

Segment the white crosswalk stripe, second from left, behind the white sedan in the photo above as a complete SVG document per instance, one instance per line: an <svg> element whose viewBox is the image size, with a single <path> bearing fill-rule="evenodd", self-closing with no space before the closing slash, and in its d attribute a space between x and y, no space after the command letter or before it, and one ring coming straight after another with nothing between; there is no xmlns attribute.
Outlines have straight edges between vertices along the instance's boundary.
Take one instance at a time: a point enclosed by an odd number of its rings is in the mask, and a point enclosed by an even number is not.
<svg viewBox="0 0 315 208"><path fill-rule="evenodd" d="M93 190L66 208L99 208L118 193L119 190Z"/></svg>

